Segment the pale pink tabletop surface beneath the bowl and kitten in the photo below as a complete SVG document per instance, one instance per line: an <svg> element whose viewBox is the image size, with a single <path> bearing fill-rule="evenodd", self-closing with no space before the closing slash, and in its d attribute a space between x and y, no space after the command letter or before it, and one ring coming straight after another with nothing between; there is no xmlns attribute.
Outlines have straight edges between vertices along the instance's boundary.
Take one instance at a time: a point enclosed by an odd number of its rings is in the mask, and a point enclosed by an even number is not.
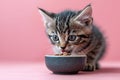
<svg viewBox="0 0 120 80"><path fill-rule="evenodd" d="M0 80L120 80L120 63L102 63L95 72L58 75L43 63L0 64Z"/></svg>

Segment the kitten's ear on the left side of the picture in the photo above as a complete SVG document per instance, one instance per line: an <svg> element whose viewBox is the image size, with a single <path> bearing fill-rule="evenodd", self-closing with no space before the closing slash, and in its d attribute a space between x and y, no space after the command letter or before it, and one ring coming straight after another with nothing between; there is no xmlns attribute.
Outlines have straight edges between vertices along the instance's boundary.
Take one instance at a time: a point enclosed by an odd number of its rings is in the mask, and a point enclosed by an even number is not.
<svg viewBox="0 0 120 80"><path fill-rule="evenodd" d="M41 8L39 8L39 12L43 17L44 24L52 23L53 20L53 13L49 13Z"/></svg>

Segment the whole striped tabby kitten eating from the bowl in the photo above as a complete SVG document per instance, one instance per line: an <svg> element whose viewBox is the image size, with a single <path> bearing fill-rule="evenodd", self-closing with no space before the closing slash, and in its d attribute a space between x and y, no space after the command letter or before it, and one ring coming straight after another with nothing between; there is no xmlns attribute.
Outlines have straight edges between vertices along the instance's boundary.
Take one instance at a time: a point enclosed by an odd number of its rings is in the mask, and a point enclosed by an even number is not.
<svg viewBox="0 0 120 80"><path fill-rule="evenodd" d="M99 68L98 60L105 51L105 39L93 25L92 7L87 5L83 10L65 10L50 13L39 8L46 26L46 33L54 45L54 52L67 52L72 55L87 55L84 71Z"/></svg>

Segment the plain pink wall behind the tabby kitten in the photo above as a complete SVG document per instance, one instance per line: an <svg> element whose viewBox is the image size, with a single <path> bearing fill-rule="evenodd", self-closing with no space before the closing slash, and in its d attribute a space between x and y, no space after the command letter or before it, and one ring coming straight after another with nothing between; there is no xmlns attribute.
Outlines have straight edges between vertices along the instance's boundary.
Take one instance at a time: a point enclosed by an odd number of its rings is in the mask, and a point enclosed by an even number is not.
<svg viewBox="0 0 120 80"><path fill-rule="evenodd" d="M107 39L104 61L120 60L119 0L0 0L0 61L43 61L52 53L37 7L59 12L91 3L94 22Z"/></svg>

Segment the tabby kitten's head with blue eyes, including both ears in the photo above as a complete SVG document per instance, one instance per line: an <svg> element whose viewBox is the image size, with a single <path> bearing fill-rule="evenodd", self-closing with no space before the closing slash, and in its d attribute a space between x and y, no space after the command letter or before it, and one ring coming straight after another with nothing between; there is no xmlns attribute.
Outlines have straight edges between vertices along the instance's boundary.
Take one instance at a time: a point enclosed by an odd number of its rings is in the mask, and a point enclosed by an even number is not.
<svg viewBox="0 0 120 80"><path fill-rule="evenodd" d="M91 5L80 11L50 13L39 9L39 12L44 20L46 33L57 53L71 52L89 41L93 22Z"/></svg>

